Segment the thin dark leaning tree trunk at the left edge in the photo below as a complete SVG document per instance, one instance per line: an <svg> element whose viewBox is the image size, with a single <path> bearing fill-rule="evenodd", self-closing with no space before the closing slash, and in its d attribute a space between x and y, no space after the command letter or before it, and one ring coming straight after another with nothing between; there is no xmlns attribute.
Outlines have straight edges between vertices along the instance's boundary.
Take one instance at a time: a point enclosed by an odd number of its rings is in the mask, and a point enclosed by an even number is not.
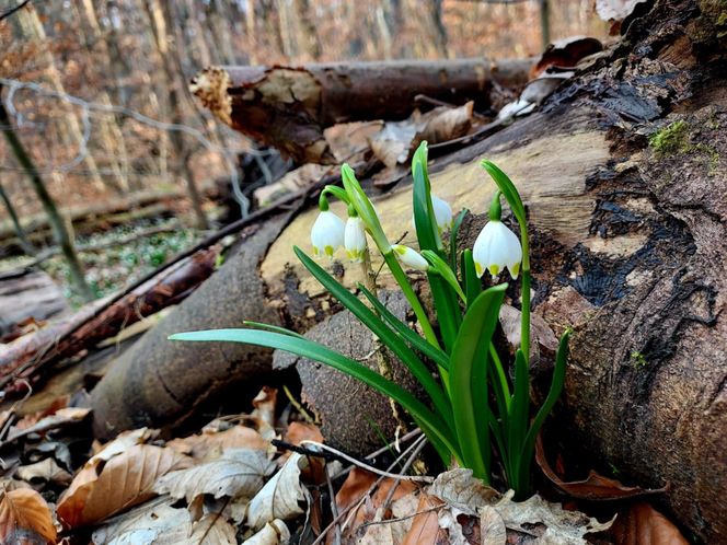
<svg viewBox="0 0 727 545"><path fill-rule="evenodd" d="M4 103L2 103L2 101L0 101L0 125L4 125L7 127L3 130L3 134L5 136L5 139L8 140L8 144L10 146L10 149L15 155L15 159L18 160L22 169L25 171L25 174L27 175L31 185L33 186L33 190L37 195L38 200L41 200L41 204L43 205L43 209L48 216L48 221L53 227L54 236L56 239L56 242L60 246L64 256L66 257L71 280L74 283L76 289L78 290L81 298L83 298L86 301L92 300L93 291L86 283L85 277L83 276L83 267L81 266L81 262L79 260L78 255L76 254L73 240L69 234L68 229L66 228L66 222L64 221L64 218L58 211L56 202L54 201L53 197L46 189L46 186L43 183L43 179L41 178L37 169L33 164L33 160L27 154L27 151L25 151L25 148L18 138L18 135L15 135L15 131L12 130L11 120L10 117L8 116L8 112L5 111L5 105Z"/></svg>

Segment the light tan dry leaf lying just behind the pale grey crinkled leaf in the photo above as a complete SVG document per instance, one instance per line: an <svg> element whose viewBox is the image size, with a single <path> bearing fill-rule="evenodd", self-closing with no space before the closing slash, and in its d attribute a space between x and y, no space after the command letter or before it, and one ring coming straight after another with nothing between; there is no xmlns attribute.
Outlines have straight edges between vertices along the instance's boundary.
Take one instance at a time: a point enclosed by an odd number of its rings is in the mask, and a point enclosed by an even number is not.
<svg viewBox="0 0 727 545"><path fill-rule="evenodd" d="M252 449L270 453L270 442L257 431L245 426L234 426L224 431L203 431L199 436L173 439L166 447L195 460L214 460L229 449Z"/></svg>

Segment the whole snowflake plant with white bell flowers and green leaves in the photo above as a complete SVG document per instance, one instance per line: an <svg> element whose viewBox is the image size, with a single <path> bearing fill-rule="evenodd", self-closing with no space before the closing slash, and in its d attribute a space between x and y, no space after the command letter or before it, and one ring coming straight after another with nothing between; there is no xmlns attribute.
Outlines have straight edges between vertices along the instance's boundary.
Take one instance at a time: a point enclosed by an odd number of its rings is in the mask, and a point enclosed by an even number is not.
<svg viewBox="0 0 727 545"><path fill-rule="evenodd" d="M462 251L459 258L457 234L466 210L453 219L449 205L431 195L426 142L412 162L414 225L419 252L389 242L373 205L347 164L342 167L343 188L326 186L321 194L321 212L311 232L314 255L332 258L336 250L344 246L351 260L367 262L368 234L408 300L424 337L379 301L374 287L358 286L367 305L300 247L293 248L311 275L409 369L427 394L425 402L368 367L277 326L246 322L249 328L182 333L170 338L259 345L290 351L348 373L404 407L445 464L453 460L489 483L496 449L509 487L517 497L527 497L538 431L563 390L569 332L561 338L549 394L531 419L530 257L526 210L510 178L489 161L483 161L482 166L495 181L498 192L489 208L489 222L474 247ZM330 197L347 205L346 223L328 210ZM500 221L501 197L519 224L519 240ZM446 248L442 235L448 229L449 248ZM438 333L402 263L426 271ZM493 344L508 285L498 283L483 290L481 281L485 271L494 279L505 268L513 280L521 278L521 343L511 366L512 376Z"/></svg>

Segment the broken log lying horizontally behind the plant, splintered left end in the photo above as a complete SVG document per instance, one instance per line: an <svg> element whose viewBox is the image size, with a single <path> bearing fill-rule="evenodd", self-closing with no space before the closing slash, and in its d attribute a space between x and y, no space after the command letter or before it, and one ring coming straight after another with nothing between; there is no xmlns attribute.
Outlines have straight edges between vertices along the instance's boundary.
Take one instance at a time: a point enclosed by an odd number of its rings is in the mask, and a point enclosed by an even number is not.
<svg viewBox="0 0 727 545"><path fill-rule="evenodd" d="M301 163L335 163L323 130L338 123L402 119L415 97L489 109L493 94L519 90L532 61L396 60L302 67L215 67L192 83L232 128Z"/></svg>

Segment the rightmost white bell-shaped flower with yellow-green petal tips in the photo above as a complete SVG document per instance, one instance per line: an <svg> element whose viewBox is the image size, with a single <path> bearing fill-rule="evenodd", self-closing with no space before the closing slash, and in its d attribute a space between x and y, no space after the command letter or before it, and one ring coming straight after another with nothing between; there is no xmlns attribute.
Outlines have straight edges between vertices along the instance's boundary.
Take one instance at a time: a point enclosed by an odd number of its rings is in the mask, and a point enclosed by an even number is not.
<svg viewBox="0 0 727 545"><path fill-rule="evenodd" d="M491 220L474 241L472 257L478 277L488 270L495 278L507 267L515 280L520 272L522 246L517 235L501 221Z"/></svg>

